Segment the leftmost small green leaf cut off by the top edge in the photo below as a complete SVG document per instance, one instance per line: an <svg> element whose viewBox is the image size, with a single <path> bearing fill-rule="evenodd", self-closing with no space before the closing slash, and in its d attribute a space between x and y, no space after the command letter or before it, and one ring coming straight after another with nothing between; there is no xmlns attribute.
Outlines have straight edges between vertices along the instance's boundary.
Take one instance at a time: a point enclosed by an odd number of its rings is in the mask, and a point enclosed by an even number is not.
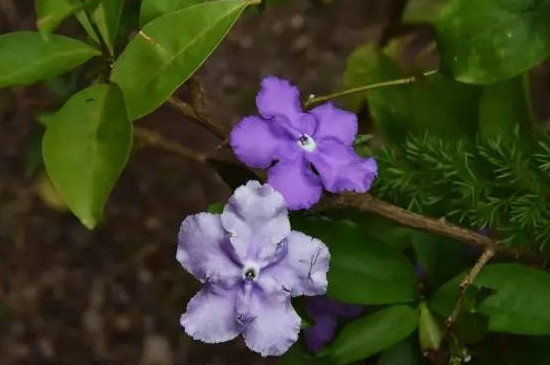
<svg viewBox="0 0 550 365"><path fill-rule="evenodd" d="M35 0L36 26L43 34L51 33L63 20L82 10L84 6L93 8L96 4L96 0Z"/></svg>

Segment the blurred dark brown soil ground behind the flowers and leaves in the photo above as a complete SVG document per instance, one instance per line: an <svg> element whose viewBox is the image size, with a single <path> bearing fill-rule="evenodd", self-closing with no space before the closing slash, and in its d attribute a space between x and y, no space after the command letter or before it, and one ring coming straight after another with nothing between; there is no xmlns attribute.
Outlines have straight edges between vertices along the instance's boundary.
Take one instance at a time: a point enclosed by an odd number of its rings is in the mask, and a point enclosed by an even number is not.
<svg viewBox="0 0 550 365"><path fill-rule="evenodd" d="M30 0L0 1L0 30L33 29ZM253 112L267 74L308 93L337 89L346 56L380 35L391 5L289 0L245 14L199 72L209 113L231 125ZM241 340L194 342L178 323L198 288L174 257L179 224L229 189L204 166L137 148L87 231L37 194L36 114L50 99L41 87L0 93L0 364L276 364ZM169 107L137 123L197 150L217 144Z"/></svg>

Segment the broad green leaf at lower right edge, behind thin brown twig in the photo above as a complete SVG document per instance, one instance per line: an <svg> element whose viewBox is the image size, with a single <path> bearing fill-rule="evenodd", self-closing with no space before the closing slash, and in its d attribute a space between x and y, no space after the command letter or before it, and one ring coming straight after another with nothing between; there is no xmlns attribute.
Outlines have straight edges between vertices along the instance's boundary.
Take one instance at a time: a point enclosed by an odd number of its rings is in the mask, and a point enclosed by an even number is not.
<svg viewBox="0 0 550 365"><path fill-rule="evenodd" d="M432 308L450 314L458 297L460 276L434 295ZM489 330L524 335L550 334L550 274L520 264L495 264L483 269L474 286L490 290L478 310L489 317Z"/></svg>

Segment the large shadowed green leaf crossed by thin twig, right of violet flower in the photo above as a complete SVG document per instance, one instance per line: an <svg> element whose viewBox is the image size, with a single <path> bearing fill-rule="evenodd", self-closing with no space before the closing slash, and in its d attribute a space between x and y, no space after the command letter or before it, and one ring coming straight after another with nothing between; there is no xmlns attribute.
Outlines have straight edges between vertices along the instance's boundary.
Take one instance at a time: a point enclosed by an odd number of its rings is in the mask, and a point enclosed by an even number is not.
<svg viewBox="0 0 550 365"><path fill-rule="evenodd" d="M353 88L402 77L405 74L394 60L376 45L366 44L351 54L344 84ZM357 108L366 97L374 122L390 142L401 143L408 133L425 132L461 138L471 137L477 131L480 93L480 87L437 74L410 85L355 95L348 99L348 106Z"/></svg>

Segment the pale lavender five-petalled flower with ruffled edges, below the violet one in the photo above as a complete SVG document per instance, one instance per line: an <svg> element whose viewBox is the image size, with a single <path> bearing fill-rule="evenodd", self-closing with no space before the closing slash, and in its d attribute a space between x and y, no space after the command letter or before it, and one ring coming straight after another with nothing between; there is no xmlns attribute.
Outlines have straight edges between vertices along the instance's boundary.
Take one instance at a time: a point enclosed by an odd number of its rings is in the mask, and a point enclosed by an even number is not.
<svg viewBox="0 0 550 365"><path fill-rule="evenodd" d="M284 199L269 185L250 181L221 215L187 217L178 241L178 261L204 284L180 320L196 340L242 334L262 356L281 355L300 330L290 298L326 292L327 247L291 231Z"/></svg>

